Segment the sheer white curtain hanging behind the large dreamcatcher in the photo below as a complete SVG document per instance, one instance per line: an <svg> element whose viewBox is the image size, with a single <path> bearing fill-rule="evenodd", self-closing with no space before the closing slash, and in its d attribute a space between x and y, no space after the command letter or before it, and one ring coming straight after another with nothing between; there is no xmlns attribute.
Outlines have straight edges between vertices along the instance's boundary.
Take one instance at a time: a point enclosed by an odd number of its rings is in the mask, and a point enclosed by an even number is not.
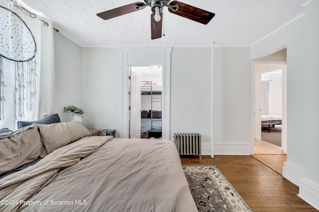
<svg viewBox="0 0 319 212"><path fill-rule="evenodd" d="M11 1L0 0L2 6L9 8ZM17 128L16 122L18 120L37 120L52 113L52 104L54 102L54 48L53 48L53 26L49 23L49 26L45 26L41 17L37 15L36 18L32 18L30 14L24 10L11 5L12 11L14 11L28 26L32 32L36 43L35 54L35 101L32 106L27 106L27 101L23 104L23 113L19 117L15 114L15 108L17 108L14 101L14 83L15 83L15 62L3 59L3 78L4 78L4 98L3 102L3 114L1 114L0 128L7 127L11 130ZM2 29L0 29L1 31ZM18 63L19 69L24 69L27 66L27 62ZM25 85L27 86L27 82ZM26 87L25 86L25 87ZM25 100L25 96L23 97ZM22 99L23 99L22 98Z"/></svg>

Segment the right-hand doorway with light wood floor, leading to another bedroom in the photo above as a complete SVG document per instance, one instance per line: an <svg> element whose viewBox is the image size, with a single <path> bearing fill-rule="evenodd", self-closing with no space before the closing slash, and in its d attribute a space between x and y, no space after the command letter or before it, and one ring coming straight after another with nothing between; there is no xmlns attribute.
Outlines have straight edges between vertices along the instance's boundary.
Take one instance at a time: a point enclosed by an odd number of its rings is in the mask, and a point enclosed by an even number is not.
<svg viewBox="0 0 319 212"><path fill-rule="evenodd" d="M287 160L286 69L286 62L254 64L253 157L281 175Z"/></svg>

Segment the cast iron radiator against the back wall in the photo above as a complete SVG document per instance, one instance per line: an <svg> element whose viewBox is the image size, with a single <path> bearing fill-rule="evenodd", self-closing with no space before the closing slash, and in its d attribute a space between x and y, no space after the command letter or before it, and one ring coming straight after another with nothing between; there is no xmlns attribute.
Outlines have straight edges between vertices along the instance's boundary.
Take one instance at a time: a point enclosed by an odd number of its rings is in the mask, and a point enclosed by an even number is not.
<svg viewBox="0 0 319 212"><path fill-rule="evenodd" d="M198 155L201 159L201 135L199 133L174 133L173 137L180 155Z"/></svg>

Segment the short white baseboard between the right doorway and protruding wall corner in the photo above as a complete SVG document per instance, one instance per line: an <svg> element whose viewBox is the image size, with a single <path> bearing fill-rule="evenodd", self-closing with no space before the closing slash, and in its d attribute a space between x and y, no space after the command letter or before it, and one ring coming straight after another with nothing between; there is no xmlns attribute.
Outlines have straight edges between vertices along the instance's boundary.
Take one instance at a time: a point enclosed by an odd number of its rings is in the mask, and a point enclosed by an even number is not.
<svg viewBox="0 0 319 212"><path fill-rule="evenodd" d="M298 167L288 161L284 162L283 177L299 186L300 179L305 176L305 172L301 167Z"/></svg>

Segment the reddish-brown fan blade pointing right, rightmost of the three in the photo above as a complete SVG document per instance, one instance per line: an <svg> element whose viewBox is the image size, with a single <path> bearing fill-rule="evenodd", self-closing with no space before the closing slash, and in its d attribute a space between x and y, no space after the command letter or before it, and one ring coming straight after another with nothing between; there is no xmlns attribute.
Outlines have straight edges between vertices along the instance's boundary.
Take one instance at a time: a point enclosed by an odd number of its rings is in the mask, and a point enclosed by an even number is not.
<svg viewBox="0 0 319 212"><path fill-rule="evenodd" d="M209 23L209 21L215 16L215 13L213 12L209 12L177 0L173 0L169 4L177 4L179 6L177 11L173 11L171 8L168 7L169 12L202 24Z"/></svg>

